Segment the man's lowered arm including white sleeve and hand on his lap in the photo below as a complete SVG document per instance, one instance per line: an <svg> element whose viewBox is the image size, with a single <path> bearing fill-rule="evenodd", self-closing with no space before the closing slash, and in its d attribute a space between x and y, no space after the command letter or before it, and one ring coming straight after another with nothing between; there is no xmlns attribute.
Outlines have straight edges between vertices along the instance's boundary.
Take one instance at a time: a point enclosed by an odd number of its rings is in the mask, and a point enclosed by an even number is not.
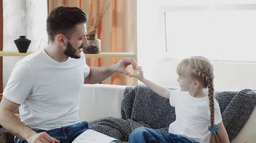
<svg viewBox="0 0 256 143"><path fill-rule="evenodd" d="M32 81L29 65L26 62L17 62L3 91L3 99L0 102L0 124L8 132L29 143L59 143L46 132L36 133L15 115L15 111L31 91Z"/></svg>

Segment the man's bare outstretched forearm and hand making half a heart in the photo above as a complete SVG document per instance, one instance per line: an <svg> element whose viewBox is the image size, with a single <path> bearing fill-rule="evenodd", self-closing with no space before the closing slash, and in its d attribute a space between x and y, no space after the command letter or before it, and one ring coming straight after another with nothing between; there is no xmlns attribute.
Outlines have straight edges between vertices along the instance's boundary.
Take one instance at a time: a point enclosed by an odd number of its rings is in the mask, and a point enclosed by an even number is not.
<svg viewBox="0 0 256 143"><path fill-rule="evenodd" d="M125 73L131 77L131 73L125 70L128 65L132 65L133 69L137 66L136 61L133 58L123 58L116 64L105 67L90 67L89 75L84 78L84 84L96 84L105 79L108 79L114 73Z"/></svg>

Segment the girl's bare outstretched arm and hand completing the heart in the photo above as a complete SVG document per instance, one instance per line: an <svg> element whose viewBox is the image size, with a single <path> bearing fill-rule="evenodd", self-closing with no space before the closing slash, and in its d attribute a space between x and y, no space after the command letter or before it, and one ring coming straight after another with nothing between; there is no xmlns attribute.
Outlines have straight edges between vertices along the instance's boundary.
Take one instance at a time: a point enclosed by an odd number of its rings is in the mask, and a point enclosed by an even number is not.
<svg viewBox="0 0 256 143"><path fill-rule="evenodd" d="M139 74L137 75L132 75L133 77L136 77L137 79L139 79L141 82L143 82L144 84L146 84L151 90L153 90L155 93L157 93L158 95L164 97L164 98L170 98L170 93L171 90L168 90L165 87L162 87L158 84L155 84L152 81L149 81L148 79L144 78L143 75L143 70L141 67L136 67L134 70L138 70Z"/></svg>

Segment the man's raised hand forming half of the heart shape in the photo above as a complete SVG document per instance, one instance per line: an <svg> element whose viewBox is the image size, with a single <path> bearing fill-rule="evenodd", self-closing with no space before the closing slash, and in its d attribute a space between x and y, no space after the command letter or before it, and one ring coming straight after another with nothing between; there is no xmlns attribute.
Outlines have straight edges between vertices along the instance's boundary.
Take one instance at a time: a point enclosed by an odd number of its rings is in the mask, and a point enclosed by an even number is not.
<svg viewBox="0 0 256 143"><path fill-rule="evenodd" d="M132 68L135 69L137 67L137 62L133 58L122 58L119 62L116 63L116 71L119 73L124 73L127 76L131 77L131 73L125 70L128 65L132 65Z"/></svg>

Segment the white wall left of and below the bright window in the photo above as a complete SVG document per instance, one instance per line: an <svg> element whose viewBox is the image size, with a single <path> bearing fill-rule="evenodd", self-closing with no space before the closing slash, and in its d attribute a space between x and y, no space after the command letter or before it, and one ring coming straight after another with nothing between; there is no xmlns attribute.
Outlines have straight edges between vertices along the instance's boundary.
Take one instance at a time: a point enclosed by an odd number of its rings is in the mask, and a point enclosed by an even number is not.
<svg viewBox="0 0 256 143"><path fill-rule="evenodd" d="M178 86L176 67L179 61L166 60L164 52L159 51L165 46L158 19L158 8L162 5L163 0L137 0L138 64L147 79L163 86ZM256 63L213 62L213 65L215 90L256 89Z"/></svg>

